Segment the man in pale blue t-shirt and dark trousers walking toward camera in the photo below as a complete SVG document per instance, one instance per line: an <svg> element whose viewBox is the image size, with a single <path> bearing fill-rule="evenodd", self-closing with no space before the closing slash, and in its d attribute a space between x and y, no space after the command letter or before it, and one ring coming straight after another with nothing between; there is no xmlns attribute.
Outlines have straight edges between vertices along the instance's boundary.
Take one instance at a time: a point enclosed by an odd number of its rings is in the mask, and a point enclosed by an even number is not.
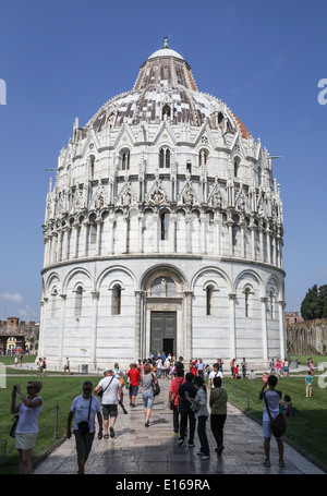
<svg viewBox="0 0 327 496"><path fill-rule="evenodd" d="M74 398L68 416L66 437L72 437L71 424L75 415L74 436L77 451L78 474L85 474L85 463L92 450L95 436L95 418L99 424L98 439L102 438L102 415L99 400L92 395L93 384L83 384L83 395Z"/></svg>

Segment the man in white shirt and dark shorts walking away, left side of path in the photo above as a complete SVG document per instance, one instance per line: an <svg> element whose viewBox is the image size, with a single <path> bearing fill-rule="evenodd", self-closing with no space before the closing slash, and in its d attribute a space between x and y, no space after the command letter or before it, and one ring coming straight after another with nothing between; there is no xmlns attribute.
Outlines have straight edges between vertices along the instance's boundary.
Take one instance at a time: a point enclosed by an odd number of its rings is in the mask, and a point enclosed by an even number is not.
<svg viewBox="0 0 327 496"><path fill-rule="evenodd" d="M102 416L104 416L104 438L108 439L108 427L110 418L110 437L114 437L113 426L118 418L118 404L123 402L123 390L119 378L116 377L111 368L105 371L105 377L96 386L94 392L98 395L102 391L101 403L102 403ZM120 399L118 398L120 396Z"/></svg>

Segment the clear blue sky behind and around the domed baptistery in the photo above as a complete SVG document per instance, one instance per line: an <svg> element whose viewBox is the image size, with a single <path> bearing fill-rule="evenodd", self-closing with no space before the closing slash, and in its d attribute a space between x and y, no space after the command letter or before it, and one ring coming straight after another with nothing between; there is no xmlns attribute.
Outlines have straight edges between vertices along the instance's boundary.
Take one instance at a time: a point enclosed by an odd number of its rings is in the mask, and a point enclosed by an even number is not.
<svg viewBox="0 0 327 496"><path fill-rule="evenodd" d="M73 121L132 89L162 47L190 63L274 160L287 311L327 283L327 3L315 0L0 1L0 319L39 318L45 199ZM1 98L0 98L1 99Z"/></svg>

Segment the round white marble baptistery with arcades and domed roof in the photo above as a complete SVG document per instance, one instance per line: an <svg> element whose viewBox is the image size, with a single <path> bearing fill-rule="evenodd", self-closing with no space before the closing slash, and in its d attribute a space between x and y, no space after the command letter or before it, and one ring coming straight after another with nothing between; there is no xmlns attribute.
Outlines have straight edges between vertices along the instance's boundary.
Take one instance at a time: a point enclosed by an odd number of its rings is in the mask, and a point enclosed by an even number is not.
<svg viewBox="0 0 327 496"><path fill-rule="evenodd" d="M73 124L50 181L39 354L97 370L150 352L284 358L271 156L168 47Z"/></svg>

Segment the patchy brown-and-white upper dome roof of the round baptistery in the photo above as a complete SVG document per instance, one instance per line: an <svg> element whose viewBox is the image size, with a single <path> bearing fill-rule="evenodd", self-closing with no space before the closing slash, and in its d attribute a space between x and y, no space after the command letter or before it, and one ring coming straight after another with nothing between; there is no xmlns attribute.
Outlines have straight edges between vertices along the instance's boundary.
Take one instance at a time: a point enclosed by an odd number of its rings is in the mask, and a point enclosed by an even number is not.
<svg viewBox="0 0 327 496"><path fill-rule="evenodd" d="M225 119L229 133L240 130L243 137L250 136L244 124L218 98L197 90L191 66L183 57L168 48L168 44L155 51L141 65L131 92L107 101L86 124L100 132L110 122L120 128L159 123L167 109L171 124L208 124L217 129Z"/></svg>

